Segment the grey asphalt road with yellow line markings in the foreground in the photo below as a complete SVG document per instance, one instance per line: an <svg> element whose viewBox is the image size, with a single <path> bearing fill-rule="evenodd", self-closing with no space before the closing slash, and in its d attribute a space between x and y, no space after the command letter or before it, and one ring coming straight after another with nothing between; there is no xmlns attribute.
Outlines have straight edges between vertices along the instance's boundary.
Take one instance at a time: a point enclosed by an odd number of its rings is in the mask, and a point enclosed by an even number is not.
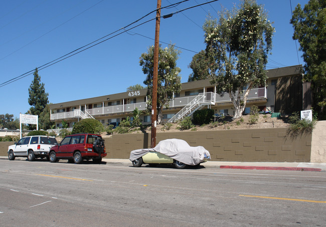
<svg viewBox="0 0 326 227"><path fill-rule="evenodd" d="M1 226L326 223L326 172L65 162L0 159Z"/></svg>

